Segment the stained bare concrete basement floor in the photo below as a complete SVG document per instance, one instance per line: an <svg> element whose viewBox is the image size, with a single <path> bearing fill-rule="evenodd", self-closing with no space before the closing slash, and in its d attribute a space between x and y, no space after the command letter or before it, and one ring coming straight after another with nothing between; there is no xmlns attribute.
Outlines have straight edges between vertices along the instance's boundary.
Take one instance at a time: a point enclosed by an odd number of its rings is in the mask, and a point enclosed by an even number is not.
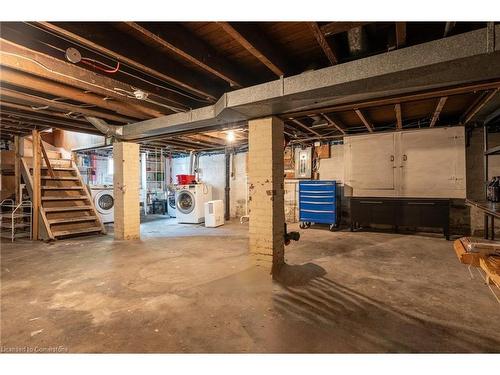
<svg viewBox="0 0 500 375"><path fill-rule="evenodd" d="M1 345L500 352L500 305L441 236L301 230L272 281L250 261L247 229L159 217L141 241L2 242Z"/></svg>

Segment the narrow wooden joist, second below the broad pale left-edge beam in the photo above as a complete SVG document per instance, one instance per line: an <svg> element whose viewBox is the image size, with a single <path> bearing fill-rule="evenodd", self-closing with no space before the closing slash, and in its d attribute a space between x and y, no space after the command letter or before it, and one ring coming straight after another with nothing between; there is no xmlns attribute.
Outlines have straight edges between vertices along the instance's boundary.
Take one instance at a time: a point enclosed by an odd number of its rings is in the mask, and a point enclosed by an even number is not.
<svg viewBox="0 0 500 375"><path fill-rule="evenodd" d="M107 120L116 121L116 122L120 122L120 123L133 123L134 122L133 119L130 119L127 117L113 115L113 114L101 112L101 111L96 111L93 109L89 109L87 107L80 107L77 105L64 103L64 102L61 102L58 100L50 100L50 99L46 99L46 98L43 98L40 96L15 91L15 90L12 90L12 89L9 89L6 87L2 87L1 98L2 98L2 100L4 100L4 98L21 100L24 102L28 102L35 107L36 106L42 107L42 109L53 108L53 109L57 109L59 111L81 113L81 114L86 115L86 116L100 117L100 118L104 118ZM48 108L44 108L44 107L48 107Z"/></svg>

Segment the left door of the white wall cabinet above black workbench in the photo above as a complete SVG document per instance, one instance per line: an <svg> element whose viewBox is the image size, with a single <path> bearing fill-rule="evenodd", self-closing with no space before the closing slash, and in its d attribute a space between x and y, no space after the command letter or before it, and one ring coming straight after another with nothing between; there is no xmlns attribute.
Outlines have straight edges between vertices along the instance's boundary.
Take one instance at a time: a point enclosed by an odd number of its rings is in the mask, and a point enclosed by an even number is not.
<svg viewBox="0 0 500 375"><path fill-rule="evenodd" d="M394 139L394 133L345 138L346 183L353 196L394 195Z"/></svg>

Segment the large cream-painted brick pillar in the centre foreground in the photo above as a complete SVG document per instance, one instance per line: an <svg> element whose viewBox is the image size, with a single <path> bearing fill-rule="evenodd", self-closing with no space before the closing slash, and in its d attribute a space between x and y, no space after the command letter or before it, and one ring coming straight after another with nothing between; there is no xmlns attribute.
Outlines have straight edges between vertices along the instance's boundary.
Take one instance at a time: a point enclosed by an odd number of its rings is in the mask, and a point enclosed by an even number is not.
<svg viewBox="0 0 500 375"><path fill-rule="evenodd" d="M277 271L284 264L283 121L248 123L250 252L258 265Z"/></svg>

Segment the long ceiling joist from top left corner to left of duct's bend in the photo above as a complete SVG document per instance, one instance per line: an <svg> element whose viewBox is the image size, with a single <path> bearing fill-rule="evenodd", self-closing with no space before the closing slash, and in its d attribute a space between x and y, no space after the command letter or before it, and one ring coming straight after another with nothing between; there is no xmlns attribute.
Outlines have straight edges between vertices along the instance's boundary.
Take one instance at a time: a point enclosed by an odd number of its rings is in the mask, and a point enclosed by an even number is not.
<svg viewBox="0 0 500 375"><path fill-rule="evenodd" d="M116 41L105 40L103 38L103 36L107 34L105 32L98 34L94 33L94 40L92 41L82 36L82 34L85 35L83 32L84 30L79 33L72 32L76 28L83 29L85 27L85 23L83 22L71 24L72 31L50 22L39 22L38 24L47 30L55 32L56 34L64 36L70 40L74 40L83 46L107 55L112 59L122 62L123 64L129 65L139 71L144 71L153 77L157 77L178 88L182 88L192 94L198 95L200 98L215 101L218 97L216 90L213 90L208 85L205 87L202 84L203 80L198 77L197 74L189 71L181 64L178 64L173 60L164 59L161 61L161 64L158 64L155 62L156 60L152 59L152 56L145 54L139 55L137 51L132 52L131 49L127 49L125 52L123 50L123 47L125 46L120 46L120 44L116 43ZM99 26L98 23L94 23L94 25ZM99 42L96 41L98 36L100 36ZM131 43L131 41L129 41L129 43ZM176 100L177 99L178 96L176 96Z"/></svg>

